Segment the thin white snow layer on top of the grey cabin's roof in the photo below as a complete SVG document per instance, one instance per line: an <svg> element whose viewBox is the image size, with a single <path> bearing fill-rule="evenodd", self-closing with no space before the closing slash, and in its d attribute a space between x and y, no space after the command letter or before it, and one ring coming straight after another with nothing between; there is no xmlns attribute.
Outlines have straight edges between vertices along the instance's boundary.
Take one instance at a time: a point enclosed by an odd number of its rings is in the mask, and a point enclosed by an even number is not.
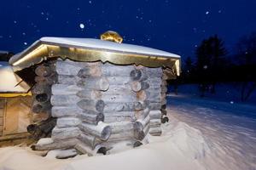
<svg viewBox="0 0 256 170"><path fill-rule="evenodd" d="M71 45L81 48L96 48L106 49L110 51L132 53L132 54L144 54L144 55L156 55L166 58L180 58L177 54L172 54L166 51L162 51L154 48L147 48L138 45L132 45L127 43L116 43L109 41L102 41L100 39L93 38L70 38L70 37L42 37L41 42L49 42L62 45Z"/></svg>

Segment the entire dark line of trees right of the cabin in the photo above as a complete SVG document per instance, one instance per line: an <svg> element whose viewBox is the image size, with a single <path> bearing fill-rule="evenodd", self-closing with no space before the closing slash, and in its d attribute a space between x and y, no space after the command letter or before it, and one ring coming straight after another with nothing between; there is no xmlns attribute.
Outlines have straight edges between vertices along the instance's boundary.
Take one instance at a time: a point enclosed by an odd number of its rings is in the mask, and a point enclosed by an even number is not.
<svg viewBox="0 0 256 170"><path fill-rule="evenodd" d="M217 35L204 39L195 50L195 58L184 60L182 74L174 84L197 83L205 91L216 93L216 83L236 82L241 85L241 100L247 100L256 88L256 31L241 37L233 54Z"/></svg>

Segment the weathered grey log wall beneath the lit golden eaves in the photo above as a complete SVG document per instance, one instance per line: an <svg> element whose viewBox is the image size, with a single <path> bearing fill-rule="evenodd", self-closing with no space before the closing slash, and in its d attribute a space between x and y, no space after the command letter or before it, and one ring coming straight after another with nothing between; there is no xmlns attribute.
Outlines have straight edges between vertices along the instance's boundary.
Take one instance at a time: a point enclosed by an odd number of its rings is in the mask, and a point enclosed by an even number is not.
<svg viewBox="0 0 256 170"><path fill-rule="evenodd" d="M40 77L51 77L46 73L50 69L42 70ZM137 146L148 132L161 134L161 108L166 105L161 68L67 59L56 61L55 72L58 81L39 90L52 95L37 100L50 99L56 118L53 142L36 144L35 150L75 148L94 155L119 142Z"/></svg>

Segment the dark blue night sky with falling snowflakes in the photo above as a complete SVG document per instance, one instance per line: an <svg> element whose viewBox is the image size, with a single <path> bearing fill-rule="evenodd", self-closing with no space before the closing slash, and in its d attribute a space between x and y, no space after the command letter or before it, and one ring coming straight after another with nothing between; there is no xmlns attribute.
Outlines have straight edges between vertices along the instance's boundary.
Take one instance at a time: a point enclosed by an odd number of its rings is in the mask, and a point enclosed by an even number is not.
<svg viewBox="0 0 256 170"><path fill-rule="evenodd" d="M232 53L239 37L256 31L255 8L256 0L1 1L0 50L17 53L40 37L99 37L113 30L126 43L184 58L218 34Z"/></svg>

